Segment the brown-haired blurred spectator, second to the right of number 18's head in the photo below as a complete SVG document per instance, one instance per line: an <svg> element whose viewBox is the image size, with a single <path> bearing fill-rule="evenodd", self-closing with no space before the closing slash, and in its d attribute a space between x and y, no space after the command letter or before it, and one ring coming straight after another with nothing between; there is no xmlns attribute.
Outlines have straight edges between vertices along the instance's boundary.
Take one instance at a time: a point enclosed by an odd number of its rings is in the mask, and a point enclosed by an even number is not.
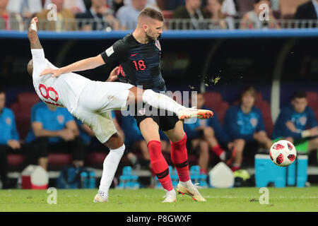
<svg viewBox="0 0 318 226"><path fill-rule="evenodd" d="M206 11L206 15L211 20L215 20L215 22L211 22L208 24L208 29L225 29L225 15L223 15L221 9L224 0L208 0L206 7L204 10Z"/></svg>

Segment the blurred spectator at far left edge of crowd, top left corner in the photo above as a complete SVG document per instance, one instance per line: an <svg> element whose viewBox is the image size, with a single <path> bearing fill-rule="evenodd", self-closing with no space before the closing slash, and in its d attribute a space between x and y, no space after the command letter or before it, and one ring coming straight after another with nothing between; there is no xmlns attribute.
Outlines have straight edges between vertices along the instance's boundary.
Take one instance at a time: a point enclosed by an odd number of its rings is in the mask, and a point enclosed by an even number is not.
<svg viewBox="0 0 318 226"><path fill-rule="evenodd" d="M23 30L22 17L19 13L6 10L8 0L0 1L0 30Z"/></svg>

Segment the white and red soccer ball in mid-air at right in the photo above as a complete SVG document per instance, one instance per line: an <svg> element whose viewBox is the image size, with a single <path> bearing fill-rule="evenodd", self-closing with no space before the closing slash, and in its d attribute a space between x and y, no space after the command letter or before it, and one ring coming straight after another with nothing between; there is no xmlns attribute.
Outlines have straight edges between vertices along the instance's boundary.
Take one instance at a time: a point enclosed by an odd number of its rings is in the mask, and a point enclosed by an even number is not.
<svg viewBox="0 0 318 226"><path fill-rule="evenodd" d="M292 164L296 159L297 152L293 143L289 141L281 140L273 143L269 150L269 157L273 163L280 167L287 167Z"/></svg>

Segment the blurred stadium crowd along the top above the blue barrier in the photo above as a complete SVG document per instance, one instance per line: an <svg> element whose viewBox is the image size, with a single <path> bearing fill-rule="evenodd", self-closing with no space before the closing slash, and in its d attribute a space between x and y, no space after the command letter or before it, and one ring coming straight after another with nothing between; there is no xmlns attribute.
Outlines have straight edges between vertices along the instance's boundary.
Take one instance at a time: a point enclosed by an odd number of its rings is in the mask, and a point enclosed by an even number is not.
<svg viewBox="0 0 318 226"><path fill-rule="evenodd" d="M318 11L315 0L1 0L0 30L26 30L33 16L40 30L133 30L146 6L182 30L316 27Z"/></svg>

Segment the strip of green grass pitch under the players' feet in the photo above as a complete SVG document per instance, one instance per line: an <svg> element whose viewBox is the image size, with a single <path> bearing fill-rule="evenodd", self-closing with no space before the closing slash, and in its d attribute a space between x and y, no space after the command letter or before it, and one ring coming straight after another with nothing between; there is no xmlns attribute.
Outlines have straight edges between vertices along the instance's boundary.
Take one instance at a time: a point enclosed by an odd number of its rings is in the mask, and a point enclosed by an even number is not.
<svg viewBox="0 0 318 226"><path fill-rule="evenodd" d="M318 211L318 186L269 188L269 204L259 203L259 188L201 189L207 202L177 195L176 203L161 203L160 189L110 189L107 203L93 203L97 189L57 190L57 204L49 205L47 190L0 190L0 211L37 212L214 212Z"/></svg>

